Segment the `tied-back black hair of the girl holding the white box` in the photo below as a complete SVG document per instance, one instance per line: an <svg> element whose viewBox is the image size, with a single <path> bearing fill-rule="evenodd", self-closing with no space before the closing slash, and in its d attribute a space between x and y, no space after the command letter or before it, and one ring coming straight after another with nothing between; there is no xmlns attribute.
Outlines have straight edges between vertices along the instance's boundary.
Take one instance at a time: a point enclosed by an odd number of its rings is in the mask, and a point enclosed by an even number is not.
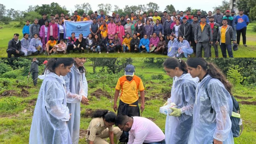
<svg viewBox="0 0 256 144"><path fill-rule="evenodd" d="M184 60L182 59L177 59L177 58L168 58L167 60L165 60L165 62L163 62L163 67L166 67L168 69L175 69L175 68L179 68L181 69L183 72L188 72L187 70L187 64Z"/></svg>

